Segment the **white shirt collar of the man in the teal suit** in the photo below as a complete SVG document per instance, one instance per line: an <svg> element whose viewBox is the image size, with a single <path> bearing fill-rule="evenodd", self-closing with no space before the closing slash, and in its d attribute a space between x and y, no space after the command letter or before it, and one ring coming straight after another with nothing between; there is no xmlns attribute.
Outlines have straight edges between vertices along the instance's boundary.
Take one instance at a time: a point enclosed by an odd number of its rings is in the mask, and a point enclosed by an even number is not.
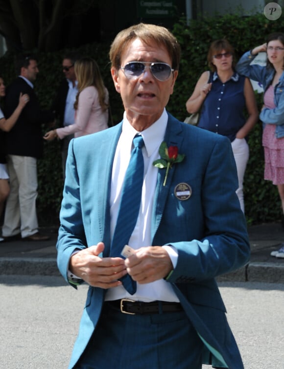
<svg viewBox="0 0 284 369"><path fill-rule="evenodd" d="M150 157L154 151L161 145L166 133L168 115L164 108L162 115L156 122L142 132L136 131L129 123L126 113L123 114L122 132L121 134L127 141L133 141L136 134L141 134L146 148L147 156Z"/></svg>

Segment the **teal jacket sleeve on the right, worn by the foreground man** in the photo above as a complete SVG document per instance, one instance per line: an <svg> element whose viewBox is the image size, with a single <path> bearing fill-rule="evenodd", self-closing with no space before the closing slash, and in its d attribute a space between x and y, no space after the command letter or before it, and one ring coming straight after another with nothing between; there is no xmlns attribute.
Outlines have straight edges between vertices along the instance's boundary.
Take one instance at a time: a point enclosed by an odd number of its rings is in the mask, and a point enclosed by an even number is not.
<svg viewBox="0 0 284 369"><path fill-rule="evenodd" d="M202 181L204 236L170 243L178 251L178 262L167 276L168 282L206 280L233 271L248 262L250 245L236 189L236 165L231 144L227 139L218 140Z"/></svg>

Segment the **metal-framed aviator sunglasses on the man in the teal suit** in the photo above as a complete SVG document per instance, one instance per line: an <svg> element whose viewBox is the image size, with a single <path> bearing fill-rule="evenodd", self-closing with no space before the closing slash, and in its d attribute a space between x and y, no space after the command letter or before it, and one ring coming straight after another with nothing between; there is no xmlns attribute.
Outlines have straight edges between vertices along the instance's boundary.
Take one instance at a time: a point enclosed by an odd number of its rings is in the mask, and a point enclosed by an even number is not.
<svg viewBox="0 0 284 369"><path fill-rule="evenodd" d="M120 67L123 70L125 77L128 79L137 79L144 73L146 67L150 68L152 75L159 81L166 81L169 79L171 72L174 71L170 65L160 62L147 62L147 61L130 61L125 64L124 67Z"/></svg>

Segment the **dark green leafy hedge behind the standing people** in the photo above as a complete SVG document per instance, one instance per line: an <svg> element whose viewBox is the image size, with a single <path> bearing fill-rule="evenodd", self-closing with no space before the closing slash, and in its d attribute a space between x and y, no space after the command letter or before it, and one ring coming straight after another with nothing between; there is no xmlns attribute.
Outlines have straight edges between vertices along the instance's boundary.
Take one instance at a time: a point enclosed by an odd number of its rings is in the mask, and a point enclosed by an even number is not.
<svg viewBox="0 0 284 369"><path fill-rule="evenodd" d="M202 20L192 20L187 25L185 19L174 25L173 33L182 47L180 73L171 96L168 110L180 120L188 115L185 103L191 95L200 74L208 69L206 57L210 43L226 37L234 46L237 56L252 47L262 44L265 36L284 29L284 21L268 21L262 14L240 17L237 15L216 16ZM104 82L110 93L110 103L114 123L121 120L123 107L120 96L115 91L110 75L108 59L109 44L85 45L77 52L93 56L99 66ZM56 89L63 78L62 58L66 52L38 53L39 69L35 89L43 108L48 108ZM13 55L0 58L0 75L8 84L15 78ZM262 96L257 96L259 107ZM44 131L47 131L44 128ZM250 134L250 159L245 175L245 206L248 223L276 221L281 217L281 204L276 186L263 180L263 151L261 146L261 123ZM45 142L44 158L38 161L39 196L38 215L41 225L58 224L58 212L62 198L63 180L60 143Z"/></svg>

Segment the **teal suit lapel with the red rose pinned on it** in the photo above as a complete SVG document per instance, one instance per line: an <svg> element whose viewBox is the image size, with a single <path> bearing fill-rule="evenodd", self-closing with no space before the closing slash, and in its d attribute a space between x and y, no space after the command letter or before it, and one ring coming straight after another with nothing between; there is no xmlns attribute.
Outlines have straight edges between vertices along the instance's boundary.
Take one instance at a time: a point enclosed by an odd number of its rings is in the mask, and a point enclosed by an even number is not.
<svg viewBox="0 0 284 369"><path fill-rule="evenodd" d="M167 147L169 146L177 146L180 152L183 135L182 135L182 127L180 122L175 119L172 115L168 113L168 121L166 127L165 141ZM182 154L182 153L181 153ZM166 180L166 185L164 186L164 179L166 175L166 169L159 169L158 171L158 179L157 186L155 191L154 205L153 205L153 213L152 213L152 226L151 226L151 239L153 240L161 219L163 215L163 211L165 209L166 198L168 196L168 192L171 186L171 182L173 179L174 172L176 170L176 165L173 164L172 168L168 171L168 176Z"/></svg>

